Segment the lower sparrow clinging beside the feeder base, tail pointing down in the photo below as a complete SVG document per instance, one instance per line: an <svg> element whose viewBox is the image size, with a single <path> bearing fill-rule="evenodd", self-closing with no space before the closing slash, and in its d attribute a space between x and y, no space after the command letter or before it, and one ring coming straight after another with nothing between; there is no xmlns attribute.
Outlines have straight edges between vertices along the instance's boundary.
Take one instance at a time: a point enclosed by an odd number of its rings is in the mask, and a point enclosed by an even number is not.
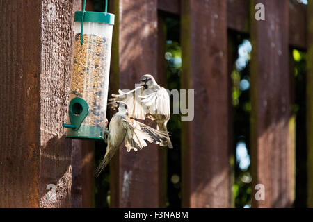
<svg viewBox="0 0 313 222"><path fill-rule="evenodd" d="M112 159L115 152L118 151L118 148L123 141L125 142L125 146L129 152L131 149L138 151L138 149L147 146L145 140L150 143L161 143L162 141L166 141L168 137L166 132L155 130L150 126L131 119L127 112L126 103L113 103L118 106L118 112L113 115L109 123L109 131L104 132L108 135L108 145L106 147L104 159L96 169L95 176L99 176L104 167L106 167Z"/></svg>

